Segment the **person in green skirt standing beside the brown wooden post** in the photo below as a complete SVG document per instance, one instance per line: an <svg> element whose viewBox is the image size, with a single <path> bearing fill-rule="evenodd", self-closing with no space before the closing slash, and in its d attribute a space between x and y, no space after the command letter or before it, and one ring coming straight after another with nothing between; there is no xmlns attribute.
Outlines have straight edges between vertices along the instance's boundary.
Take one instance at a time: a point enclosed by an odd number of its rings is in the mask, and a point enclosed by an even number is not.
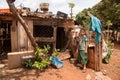
<svg viewBox="0 0 120 80"><path fill-rule="evenodd" d="M80 29L79 37L76 38L76 40L79 43L78 60L80 60L83 65L83 72L86 72L86 64L88 61L88 38L84 28Z"/></svg>

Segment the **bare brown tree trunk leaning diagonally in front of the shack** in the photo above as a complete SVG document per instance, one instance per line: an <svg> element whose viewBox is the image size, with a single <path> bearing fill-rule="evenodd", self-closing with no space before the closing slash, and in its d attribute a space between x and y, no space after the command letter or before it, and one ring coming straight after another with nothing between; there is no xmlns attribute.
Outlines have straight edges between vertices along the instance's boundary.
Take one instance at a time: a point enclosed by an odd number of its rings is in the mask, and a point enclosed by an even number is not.
<svg viewBox="0 0 120 80"><path fill-rule="evenodd" d="M14 5L14 1L15 0L7 0L8 6L11 10L11 12L13 13L13 15L15 16L15 18L17 18L17 20L22 24L23 28L25 29L25 32L28 36L28 38L31 41L32 46L34 47L34 49L38 48L37 43L35 42L31 32L28 29L28 25L25 23L25 21L23 20L23 18L20 16L20 14L17 12L15 5Z"/></svg>

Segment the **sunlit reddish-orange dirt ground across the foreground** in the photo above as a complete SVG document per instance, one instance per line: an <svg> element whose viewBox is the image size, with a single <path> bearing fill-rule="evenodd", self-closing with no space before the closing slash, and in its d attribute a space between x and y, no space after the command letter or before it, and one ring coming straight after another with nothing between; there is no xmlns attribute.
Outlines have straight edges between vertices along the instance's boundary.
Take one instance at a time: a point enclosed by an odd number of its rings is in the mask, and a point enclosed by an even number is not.
<svg viewBox="0 0 120 80"><path fill-rule="evenodd" d="M91 80L95 79L96 71L88 68L86 73L82 73L79 67L71 64L69 60L64 60L64 66L60 69L49 68L41 72L37 69L8 69L7 60L2 60L6 66L0 69L0 80L86 80L89 75ZM100 72L105 72L105 76L111 80L120 80L120 45L115 46L109 64L102 64Z"/></svg>

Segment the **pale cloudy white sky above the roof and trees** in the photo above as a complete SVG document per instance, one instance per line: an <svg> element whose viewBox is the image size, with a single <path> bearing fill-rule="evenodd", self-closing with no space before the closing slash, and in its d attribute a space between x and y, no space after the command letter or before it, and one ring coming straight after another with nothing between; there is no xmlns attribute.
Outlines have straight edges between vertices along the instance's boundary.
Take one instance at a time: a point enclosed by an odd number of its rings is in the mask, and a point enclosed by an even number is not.
<svg viewBox="0 0 120 80"><path fill-rule="evenodd" d="M73 15L76 15L80 11L85 8L91 8L101 0L16 0L15 6L20 7L29 7L32 11L35 11L39 8L40 3L45 2L49 3L49 11L56 14L57 11L64 12L66 14L70 14L70 8L68 3L74 3L75 6L73 8ZM8 8L6 0L0 0L0 8Z"/></svg>

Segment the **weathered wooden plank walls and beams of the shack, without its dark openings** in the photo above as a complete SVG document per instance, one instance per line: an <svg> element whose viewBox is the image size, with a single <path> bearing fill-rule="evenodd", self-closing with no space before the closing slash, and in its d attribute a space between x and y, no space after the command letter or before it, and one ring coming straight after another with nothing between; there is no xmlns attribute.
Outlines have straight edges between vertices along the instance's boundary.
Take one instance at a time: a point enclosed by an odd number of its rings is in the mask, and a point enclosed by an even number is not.
<svg viewBox="0 0 120 80"><path fill-rule="evenodd" d="M12 25L10 26L11 52L33 49L30 40L27 37L22 25L19 23L18 20L16 20L16 18L12 15L12 13L1 13L0 18L1 21L9 20L12 22L11 23ZM59 27L63 28L65 34L67 33L67 31L69 31L69 29L74 28L74 21L72 19L63 19L57 17L41 17L35 15L23 16L23 19L28 24L29 30L32 33L32 35L34 33L33 31L33 28L35 27L34 25L43 25L48 27L50 26L51 28L53 28L52 37L34 37L35 41L37 42L51 43L53 45L52 49L55 49L57 45L56 39L57 36L59 36L57 35L57 29Z"/></svg>

